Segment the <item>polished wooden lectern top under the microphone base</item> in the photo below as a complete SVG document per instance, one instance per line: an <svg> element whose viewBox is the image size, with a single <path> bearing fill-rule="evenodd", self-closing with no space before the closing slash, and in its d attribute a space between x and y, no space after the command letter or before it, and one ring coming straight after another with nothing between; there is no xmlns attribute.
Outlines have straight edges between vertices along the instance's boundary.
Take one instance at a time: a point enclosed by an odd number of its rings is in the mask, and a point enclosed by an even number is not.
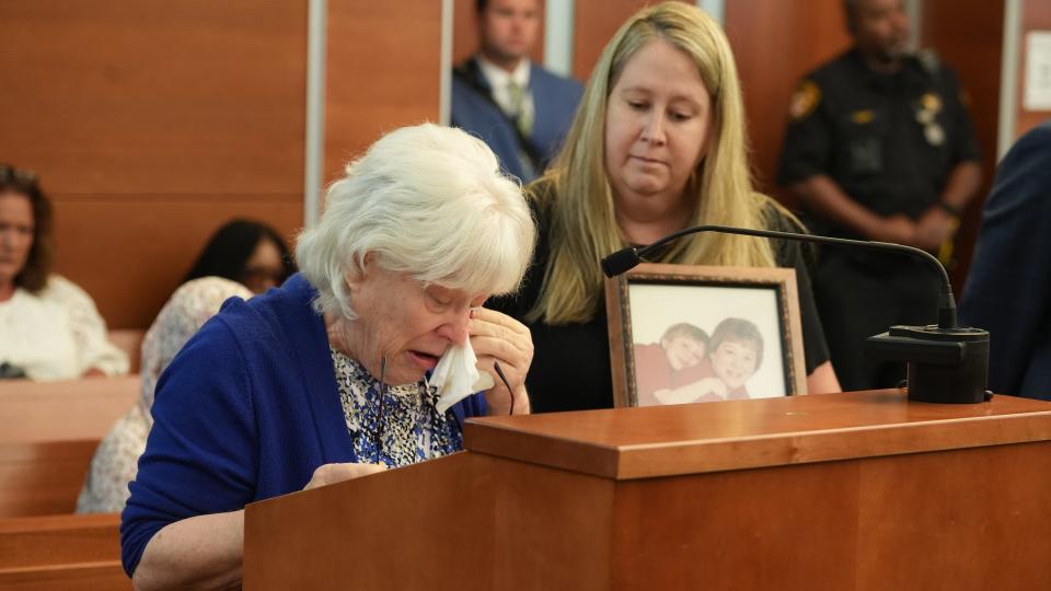
<svg viewBox="0 0 1051 591"><path fill-rule="evenodd" d="M1042 440L1051 403L917 403L902 390L485 417L464 428L472 452L617 480Z"/></svg>

